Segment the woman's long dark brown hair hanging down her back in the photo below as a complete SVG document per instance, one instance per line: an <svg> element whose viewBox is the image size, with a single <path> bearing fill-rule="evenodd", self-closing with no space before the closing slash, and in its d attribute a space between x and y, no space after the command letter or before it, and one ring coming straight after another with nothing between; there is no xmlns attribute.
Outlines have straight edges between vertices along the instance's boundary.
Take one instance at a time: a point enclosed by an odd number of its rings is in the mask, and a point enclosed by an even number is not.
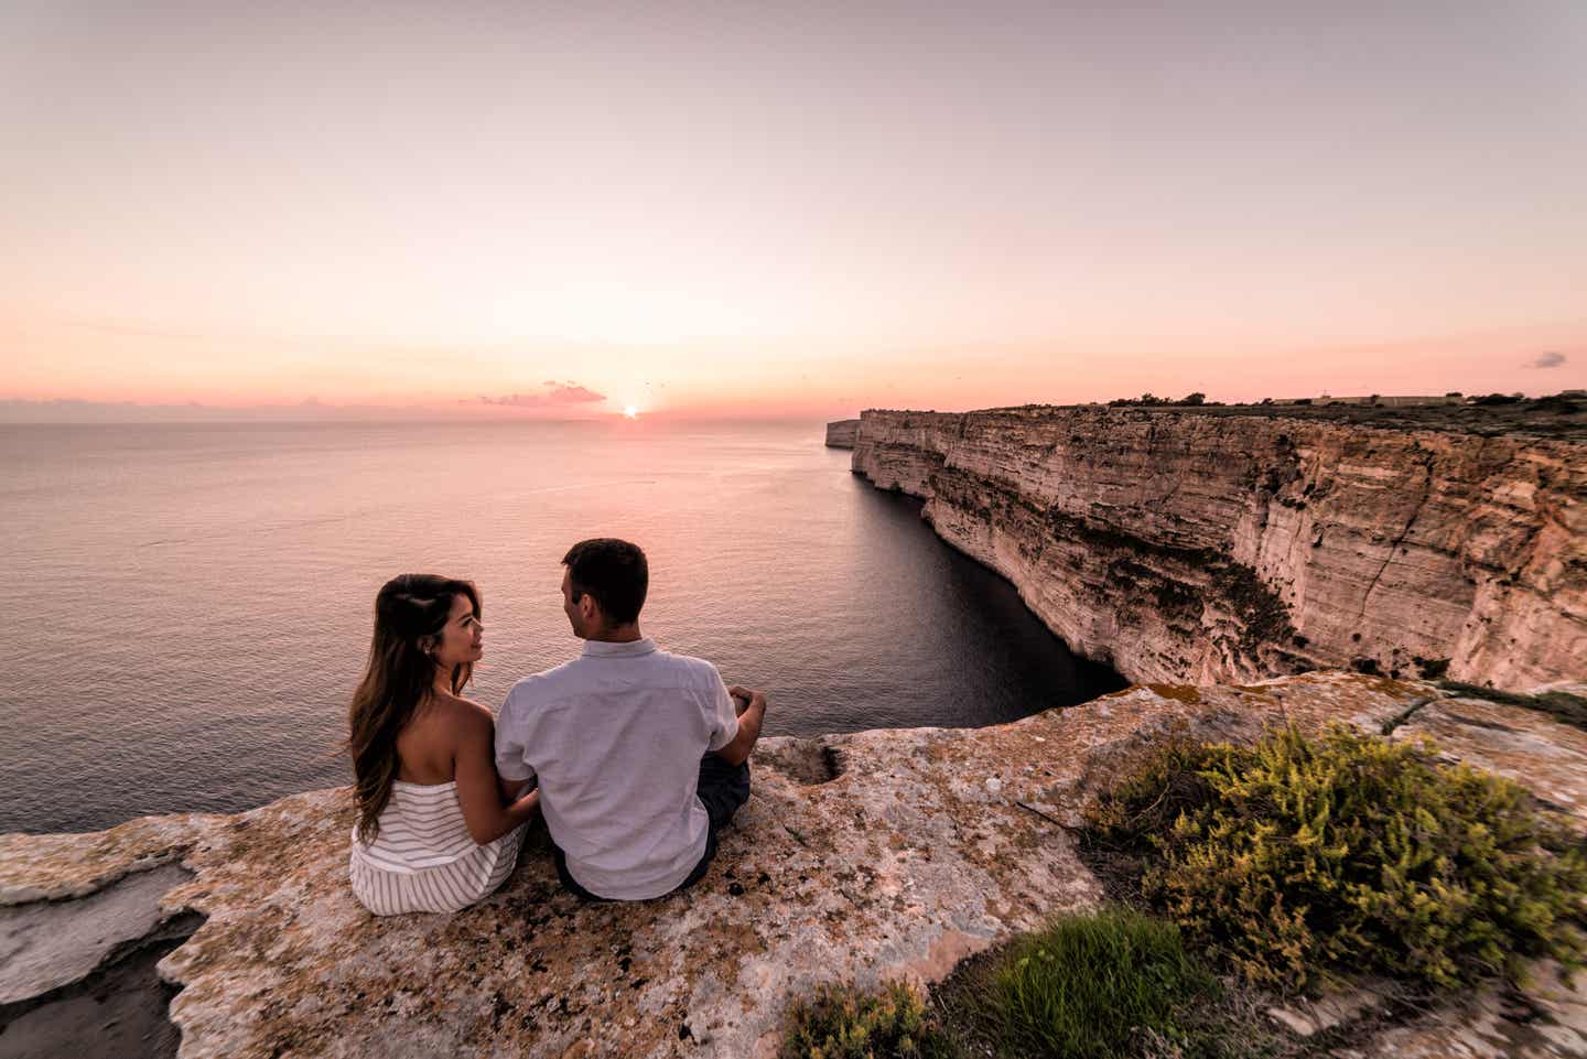
<svg viewBox="0 0 1587 1059"><path fill-rule="evenodd" d="M348 710L352 803L359 813L359 838L365 845L379 835L381 810L392 797L392 781L402 765L397 735L435 684L435 659L425 654L424 640L441 633L459 595L467 595L475 605L475 618L482 616L479 591L473 584L433 573L392 578L375 597L370 660ZM465 662L452 672L454 695L468 683L473 668L471 662Z"/></svg>

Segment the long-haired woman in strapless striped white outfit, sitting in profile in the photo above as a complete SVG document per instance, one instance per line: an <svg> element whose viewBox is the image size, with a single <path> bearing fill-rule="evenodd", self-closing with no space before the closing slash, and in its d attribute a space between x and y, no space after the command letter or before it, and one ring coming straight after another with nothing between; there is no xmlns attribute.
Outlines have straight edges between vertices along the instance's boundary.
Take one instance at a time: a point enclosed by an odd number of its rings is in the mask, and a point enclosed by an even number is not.
<svg viewBox="0 0 1587 1059"><path fill-rule="evenodd" d="M513 870L540 792L495 772L490 711L459 692L484 626L468 581L405 573L375 599L349 721L352 892L378 916L457 911Z"/></svg>

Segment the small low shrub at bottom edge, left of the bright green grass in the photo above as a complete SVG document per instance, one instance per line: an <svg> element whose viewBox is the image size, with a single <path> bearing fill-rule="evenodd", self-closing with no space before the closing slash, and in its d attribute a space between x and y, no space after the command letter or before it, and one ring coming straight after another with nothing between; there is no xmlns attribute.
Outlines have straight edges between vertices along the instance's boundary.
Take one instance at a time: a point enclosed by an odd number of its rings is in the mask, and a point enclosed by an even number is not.
<svg viewBox="0 0 1587 1059"><path fill-rule="evenodd" d="M787 1015L779 1059L954 1059L952 1037L903 983L874 992L822 986Z"/></svg>

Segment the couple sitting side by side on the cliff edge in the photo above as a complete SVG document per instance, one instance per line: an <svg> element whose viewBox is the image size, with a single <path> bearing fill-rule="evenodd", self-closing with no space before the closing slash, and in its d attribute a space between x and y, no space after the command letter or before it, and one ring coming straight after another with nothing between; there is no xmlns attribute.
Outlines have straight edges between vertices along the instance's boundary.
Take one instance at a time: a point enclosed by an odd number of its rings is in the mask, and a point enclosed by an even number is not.
<svg viewBox="0 0 1587 1059"><path fill-rule="evenodd" d="M370 911L455 911L490 894L536 810L568 891L662 897L705 875L749 799L765 695L640 635L638 546L586 540L562 564L584 653L521 680L497 721L460 697L481 657L475 586L409 573L376 597L349 740L352 892Z"/></svg>

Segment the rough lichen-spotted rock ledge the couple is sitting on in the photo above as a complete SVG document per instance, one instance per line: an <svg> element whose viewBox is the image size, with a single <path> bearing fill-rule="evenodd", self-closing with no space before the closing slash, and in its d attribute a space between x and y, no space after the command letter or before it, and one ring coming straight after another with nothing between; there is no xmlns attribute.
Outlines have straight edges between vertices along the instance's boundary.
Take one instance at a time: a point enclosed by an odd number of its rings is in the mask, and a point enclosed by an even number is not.
<svg viewBox="0 0 1587 1059"><path fill-rule="evenodd" d="M1420 718L1425 721L1419 722ZM1068 827L1171 734L1251 740L1343 721L1427 730L1527 783L1587 830L1587 734L1433 684L1308 673L1243 687L1132 687L989 729L763 740L754 797L692 891L638 905L562 892L536 830L506 886L457 915L375 918L348 889L344 788L236 816L0 837L0 905L59 913L179 862L162 918L203 926L160 962L186 1059L276 1056L773 1056L784 1008L825 981L930 983L1089 908ZM1587 1054L1587 976L1524 1010L1463 999L1339 1056Z"/></svg>

